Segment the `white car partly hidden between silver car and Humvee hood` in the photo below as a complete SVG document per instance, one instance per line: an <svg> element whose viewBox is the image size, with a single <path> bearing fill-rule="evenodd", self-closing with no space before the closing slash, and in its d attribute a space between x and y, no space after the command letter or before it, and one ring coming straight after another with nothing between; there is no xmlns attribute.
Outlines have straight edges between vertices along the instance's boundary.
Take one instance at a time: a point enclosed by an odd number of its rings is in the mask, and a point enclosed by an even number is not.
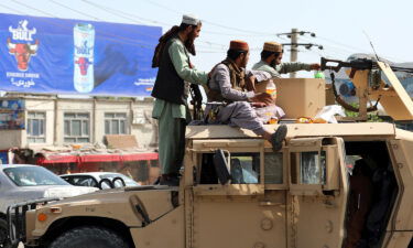
<svg viewBox="0 0 413 248"><path fill-rule="evenodd" d="M100 190L122 186L140 186L132 179L117 172L87 172L61 175L69 184L76 186L93 186Z"/></svg>

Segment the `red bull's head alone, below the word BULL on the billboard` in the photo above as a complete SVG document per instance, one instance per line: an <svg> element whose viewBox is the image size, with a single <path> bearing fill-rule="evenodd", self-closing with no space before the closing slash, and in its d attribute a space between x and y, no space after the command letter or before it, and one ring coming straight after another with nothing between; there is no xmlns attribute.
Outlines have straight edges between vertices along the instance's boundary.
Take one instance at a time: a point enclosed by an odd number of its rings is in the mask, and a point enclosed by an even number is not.
<svg viewBox="0 0 413 248"><path fill-rule="evenodd" d="M8 39L9 53L14 55L18 62L19 71L25 72L29 67L30 57L36 55L39 48L39 40L35 44L30 43L12 43L11 39Z"/></svg>

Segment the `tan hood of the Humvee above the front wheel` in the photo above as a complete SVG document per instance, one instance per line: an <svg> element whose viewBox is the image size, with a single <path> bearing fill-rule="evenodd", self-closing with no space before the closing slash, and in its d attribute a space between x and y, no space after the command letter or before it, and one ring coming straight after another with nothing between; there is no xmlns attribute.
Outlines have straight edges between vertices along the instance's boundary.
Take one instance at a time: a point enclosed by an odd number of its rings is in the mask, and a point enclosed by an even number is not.
<svg viewBox="0 0 413 248"><path fill-rule="evenodd" d="M118 219L128 226L142 226L145 219L143 216L154 222L176 207L172 202L173 194L177 195L177 188L164 186L111 188L52 202L43 208L59 207L61 214L53 215L53 218L74 215L96 216ZM48 211L46 209L45 213Z"/></svg>

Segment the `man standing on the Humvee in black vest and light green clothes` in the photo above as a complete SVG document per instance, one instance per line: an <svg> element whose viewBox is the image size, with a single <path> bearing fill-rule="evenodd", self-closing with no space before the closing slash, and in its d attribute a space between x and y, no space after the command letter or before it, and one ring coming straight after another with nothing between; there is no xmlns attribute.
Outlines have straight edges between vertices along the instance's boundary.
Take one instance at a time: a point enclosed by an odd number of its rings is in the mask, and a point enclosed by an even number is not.
<svg viewBox="0 0 413 248"><path fill-rule="evenodd" d="M208 74L191 64L188 53L195 55L194 41L199 36L202 22L184 15L160 37L152 60L159 67L152 96L155 99L152 117L159 120L159 153L162 166L160 184L177 186L178 172L185 152L185 128L191 120L187 107L187 84L206 84Z"/></svg>

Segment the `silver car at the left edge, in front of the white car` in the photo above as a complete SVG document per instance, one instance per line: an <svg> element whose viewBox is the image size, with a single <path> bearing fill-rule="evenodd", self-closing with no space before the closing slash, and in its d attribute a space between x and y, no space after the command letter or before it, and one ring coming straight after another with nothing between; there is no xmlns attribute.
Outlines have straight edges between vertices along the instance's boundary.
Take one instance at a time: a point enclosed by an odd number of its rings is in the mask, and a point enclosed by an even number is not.
<svg viewBox="0 0 413 248"><path fill-rule="evenodd" d="M0 247L8 247L7 208L39 198L64 198L97 191L76 187L45 168L29 164L0 164Z"/></svg>

